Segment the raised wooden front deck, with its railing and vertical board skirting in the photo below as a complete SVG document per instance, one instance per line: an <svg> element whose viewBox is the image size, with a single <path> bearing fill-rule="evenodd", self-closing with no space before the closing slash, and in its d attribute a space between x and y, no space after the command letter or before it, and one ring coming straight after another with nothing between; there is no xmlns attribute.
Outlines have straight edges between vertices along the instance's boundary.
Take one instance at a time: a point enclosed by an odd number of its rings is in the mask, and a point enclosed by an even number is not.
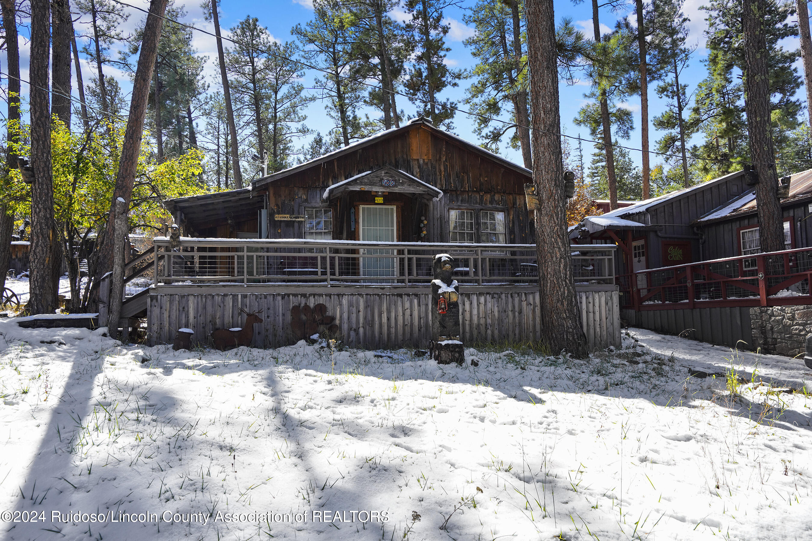
<svg viewBox="0 0 812 541"><path fill-rule="evenodd" d="M298 341L291 308L323 303L348 346L425 348L430 262L443 252L456 258L466 343L541 338L535 247L529 245L184 238L179 250L170 251L166 239L155 244L158 285L147 301L151 344L173 341L178 328L192 328L193 342L208 343L215 328L242 327L242 308L262 310L254 346L287 346ZM614 249L573 247L581 320L592 349L620 346Z"/></svg>

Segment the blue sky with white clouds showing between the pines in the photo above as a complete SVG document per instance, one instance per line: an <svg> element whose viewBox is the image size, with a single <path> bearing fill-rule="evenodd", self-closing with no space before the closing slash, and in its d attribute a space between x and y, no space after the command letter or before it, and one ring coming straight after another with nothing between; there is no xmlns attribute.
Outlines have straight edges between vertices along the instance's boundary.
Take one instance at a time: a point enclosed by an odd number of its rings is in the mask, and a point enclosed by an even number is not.
<svg viewBox="0 0 812 541"><path fill-rule="evenodd" d="M123 0L124 2L131 3L134 6L142 6L146 8L149 6L149 2L145 2L144 0ZM221 10L222 10L222 17L220 20L222 29L227 34L227 29L231 28L237 24L241 19L244 19L247 15L252 15L257 17L260 23L266 28L274 39L278 41L288 41L292 39L291 36L291 28L297 23L304 23L312 18L313 16L313 9L312 4L310 3L312 0L271 0L270 2L248 2L247 0L222 0ZM447 62L457 68L471 68L474 65L474 59L469 54L469 50L464 46L463 40L464 38L471 36L473 34L473 28L468 28L463 23L463 17L466 7L471 7L474 5L473 0L466 0L464 1L461 6L457 7L450 7L447 9L445 13L446 23L449 24L451 27L451 31L448 33L447 36L447 45L451 47L451 52L447 55ZM592 36L592 12L590 7L591 2L583 2L579 5L574 5L570 0L556 0L555 1L555 19L556 24L564 17L569 17L573 20L574 24L576 24L577 28L580 28L583 32L585 32L585 36L591 38ZM685 71L683 79L686 84L689 84L689 92L692 92L699 81L701 81L705 75L706 70L702 63L702 61L706 58L706 49L705 49L705 37L703 32L706 30L706 22L704 20L705 13L700 11L699 6L704 3L704 0L686 0L684 5L685 15L688 15L691 19L689 23L689 45L693 45L696 47L696 51L693 54L692 61L690 62L690 66ZM213 31L213 27L211 24L205 22L202 15L202 10L197 0L192 0L192 2L176 2L176 5L184 5L186 11L188 11L188 16L186 17L184 22L188 24L192 24L199 28L204 28L208 31ZM125 24L122 25L122 29L124 32L132 31L135 28L136 24L143 18L143 13L140 11L128 9L128 11L132 12L132 16ZM402 9L395 11L395 16L404 17L404 11ZM627 16L633 16L632 13L632 3L628 4L626 9L620 11L609 11L603 10L600 13L600 22L601 27L603 28L604 32L609 32L611 28L614 28L615 21L624 18ZM793 21L794 22L794 21ZM82 25L79 24L77 28L77 32L81 32ZM21 68L23 71L23 78L27 79L28 77L28 46L27 44L21 44ZM202 56L208 56L209 61L205 67L205 76L211 84L212 90L216 90L219 88L219 74L217 69L217 56L216 56L216 44L214 41L214 37L208 36L201 32L194 32L194 37L192 41L192 45L199 51L199 54ZM227 45L227 43L226 43ZM81 45L80 45L81 46ZM784 44L785 47L797 47L797 40L787 40ZM0 54L0 61L2 61L2 65L6 66L6 59L5 51ZM801 76L801 65L798 62L798 71L799 76ZM116 72L112 69L108 72L109 75L116 76L124 91L129 92L132 88L132 84L130 82L129 76L121 73ZM89 66L86 62L83 62L83 75L84 80L89 81L91 76L91 71ZM305 77L304 84L308 86L309 81L313 79L312 74L308 74ZM465 105L462 104L462 100L465 94L465 88L467 88L471 84L470 80L462 80L460 81L460 86L457 88L448 88L443 94L440 96L441 98L444 97L451 97L451 99L456 100L460 103L460 109L465 109ZM24 92L27 92L27 88L23 89ZM585 104L585 97L584 93L589 91L589 84L585 80L578 81L577 84L572 86L568 86L567 84L561 84L559 87L560 93L560 107L561 107L561 122L562 122L562 130L564 133L568 135L578 135L579 133L588 138L589 134L584 128L577 127L573 122L572 119L577 116L578 109L581 108L582 105ZM76 94L76 90L74 91ZM803 91L798 93L798 97L803 97ZM404 107L407 113L414 114L414 107L408 103L405 98L401 98L399 101L399 106ZM629 147L639 148L640 146L640 101L638 97L629 97L628 101L624 102L624 106L630 109L633 112L634 116L634 124L635 130L633 131L631 138L629 140L623 141L621 140L620 143L624 144ZM654 92L654 88L650 88L650 118L654 118L654 115L659 114L663 111L665 104L663 101L659 100L656 97L656 93ZM326 115L324 114L324 104L320 101L315 101L306 111L308 115L307 125L314 130L325 132L332 127L332 123ZM473 120L469 118L467 115L458 113L454 120L456 126L456 132L458 135L464 137L464 139L471 140L476 142L476 136L473 134ZM651 145L652 148L654 146L654 141L657 140L659 134L653 130L651 130ZM573 143L574 146L577 144ZM512 150L511 148L506 148L503 146L503 154L516 161L518 163L521 162L520 153ZM585 161L589 161L589 156L592 152L592 145L591 144L584 144L584 159ZM641 160L641 153L640 152L631 152L631 156L633 161L640 163ZM655 163L659 160L653 157L652 162Z"/></svg>

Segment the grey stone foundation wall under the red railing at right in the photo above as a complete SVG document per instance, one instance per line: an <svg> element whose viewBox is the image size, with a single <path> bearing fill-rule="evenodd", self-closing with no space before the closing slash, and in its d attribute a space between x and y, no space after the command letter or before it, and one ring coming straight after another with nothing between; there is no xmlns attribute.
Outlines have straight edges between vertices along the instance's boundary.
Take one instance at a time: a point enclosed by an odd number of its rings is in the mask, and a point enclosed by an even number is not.
<svg viewBox="0 0 812 541"><path fill-rule="evenodd" d="M750 324L753 350L794 357L804 353L806 336L812 333L812 307L753 307Z"/></svg>

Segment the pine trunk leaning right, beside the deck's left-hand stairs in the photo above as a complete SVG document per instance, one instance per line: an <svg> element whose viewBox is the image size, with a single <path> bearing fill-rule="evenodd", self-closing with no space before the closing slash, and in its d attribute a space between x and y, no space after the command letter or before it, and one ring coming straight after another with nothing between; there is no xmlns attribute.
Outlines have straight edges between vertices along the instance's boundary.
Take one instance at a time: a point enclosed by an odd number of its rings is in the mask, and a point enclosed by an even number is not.
<svg viewBox="0 0 812 541"><path fill-rule="evenodd" d="M119 159L119 173L115 178L115 188L113 200L110 204L110 218L107 220L106 238L99 252L99 272L104 274L113 269L114 257L123 257L123 247L127 241L126 234L122 237L115 237L114 223L117 215L116 202L119 199L126 203L125 208L129 208L132 200L132 189L136 180L136 169L138 167L138 154L141 148L141 140L144 135L144 119L147 113L147 102L149 101L149 82L152 79L155 68L155 58L158 53L158 39L161 36L163 24L163 14L166 11L168 0L151 0L149 2L149 15L144 26L144 35L141 39L141 52L138 55L138 66L136 67L136 77L132 82L132 98L130 100L130 114L127 118L127 127L124 131L124 140L121 148L121 158ZM113 282L115 283L115 282ZM123 291L110 292L110 311L112 313L114 304L121 304ZM119 307L120 313L120 307ZM114 331L113 331L114 332Z"/></svg>

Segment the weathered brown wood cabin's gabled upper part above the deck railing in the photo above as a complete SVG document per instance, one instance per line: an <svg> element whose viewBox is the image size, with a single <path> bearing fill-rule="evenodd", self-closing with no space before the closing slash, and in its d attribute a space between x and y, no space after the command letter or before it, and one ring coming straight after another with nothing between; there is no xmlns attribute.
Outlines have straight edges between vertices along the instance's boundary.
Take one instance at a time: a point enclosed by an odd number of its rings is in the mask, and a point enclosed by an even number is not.
<svg viewBox="0 0 812 541"><path fill-rule="evenodd" d="M193 237L529 244L532 178L416 118L248 188L166 206Z"/></svg>

